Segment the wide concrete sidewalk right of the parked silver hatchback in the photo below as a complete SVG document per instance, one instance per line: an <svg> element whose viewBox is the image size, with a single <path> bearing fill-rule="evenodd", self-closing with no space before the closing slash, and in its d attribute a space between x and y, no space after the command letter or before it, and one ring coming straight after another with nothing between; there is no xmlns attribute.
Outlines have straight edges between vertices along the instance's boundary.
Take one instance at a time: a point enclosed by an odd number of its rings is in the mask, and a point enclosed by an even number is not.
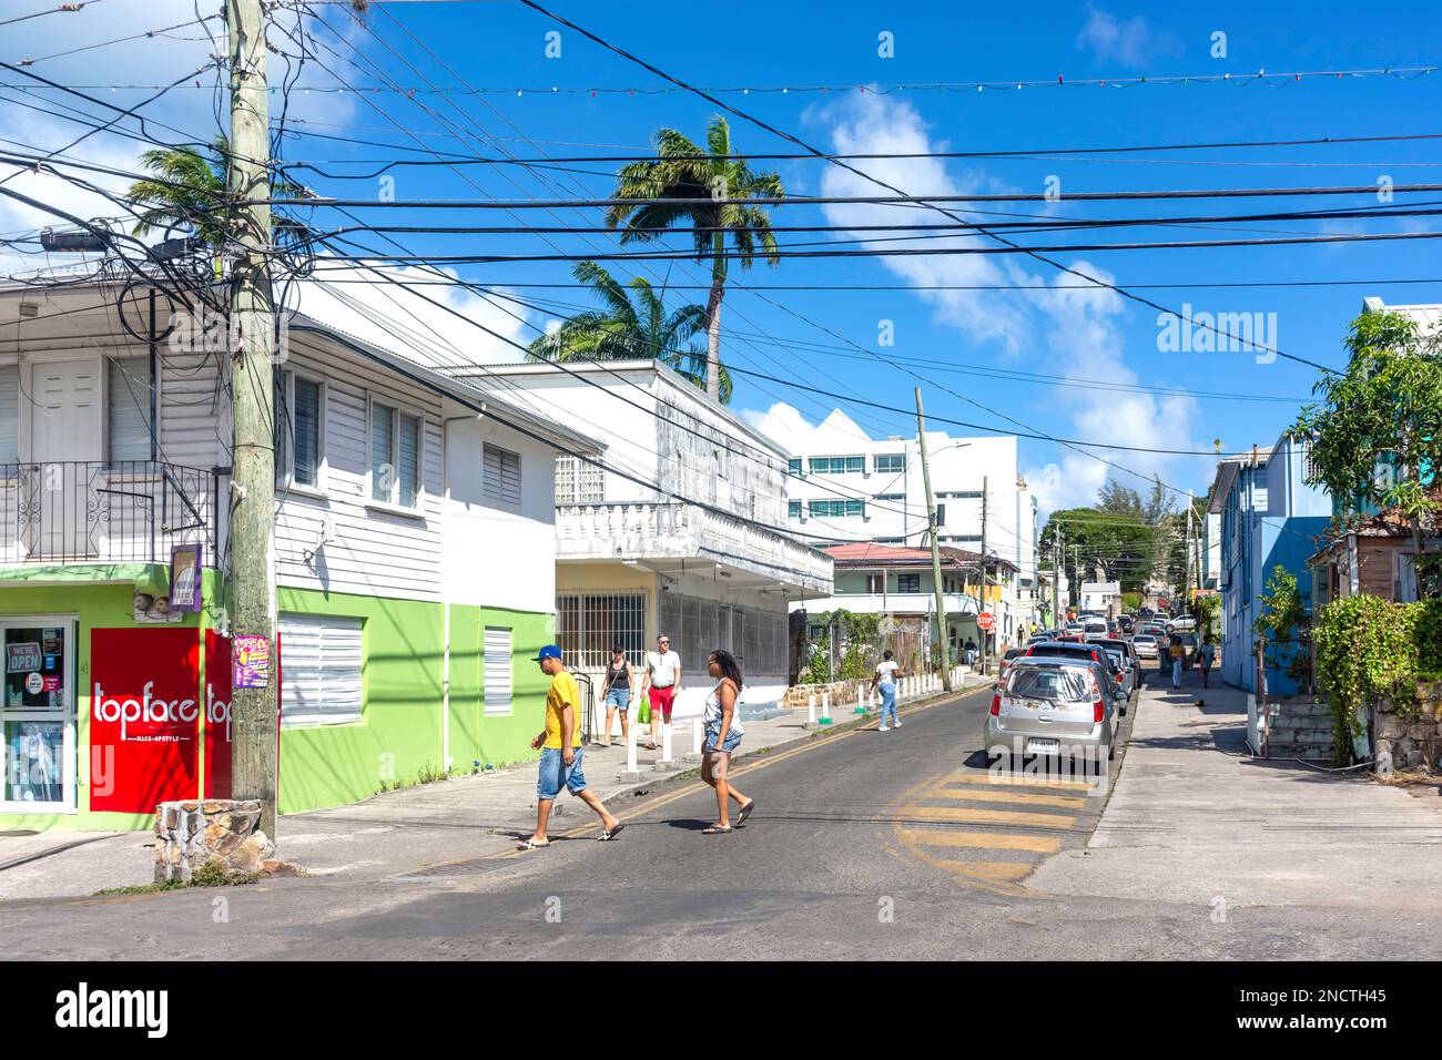
<svg viewBox="0 0 1442 1060"><path fill-rule="evenodd" d="M1054 894L1226 906L1438 910L1442 798L1263 760L1246 747L1247 697L1200 675L1148 671L1106 812L1086 849L1027 881Z"/></svg>

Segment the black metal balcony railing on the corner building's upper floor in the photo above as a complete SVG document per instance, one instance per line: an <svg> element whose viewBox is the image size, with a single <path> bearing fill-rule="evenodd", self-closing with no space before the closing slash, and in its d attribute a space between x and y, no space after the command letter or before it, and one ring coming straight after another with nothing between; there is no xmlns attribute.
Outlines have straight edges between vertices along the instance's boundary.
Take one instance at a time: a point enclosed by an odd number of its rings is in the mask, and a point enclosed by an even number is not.
<svg viewBox="0 0 1442 1060"><path fill-rule="evenodd" d="M215 470L153 460L0 464L0 565L215 555Z"/></svg>

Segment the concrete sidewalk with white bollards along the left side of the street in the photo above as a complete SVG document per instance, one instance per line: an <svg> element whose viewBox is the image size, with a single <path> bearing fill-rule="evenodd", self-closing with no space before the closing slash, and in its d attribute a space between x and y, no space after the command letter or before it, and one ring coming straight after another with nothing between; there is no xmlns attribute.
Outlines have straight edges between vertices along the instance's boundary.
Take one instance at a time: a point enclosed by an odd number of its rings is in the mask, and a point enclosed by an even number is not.
<svg viewBox="0 0 1442 1060"><path fill-rule="evenodd" d="M982 684L966 675L965 691ZM901 704L937 702L945 694ZM779 717L747 720L746 738L737 759L764 754L797 744L826 731L857 724L877 724L877 711L859 717L855 704L832 705L832 725L806 730L806 710ZM541 718L536 718L539 727ZM678 723L672 730L671 769L658 767L660 750L637 748L642 780L629 780L624 744L588 746L583 767L593 790L613 813L627 799L647 793L685 773L699 770L689 757L692 727ZM430 785L375 795L335 809L287 813L277 823L277 855L294 861L317 877L385 878L423 865L454 858L473 858L515 845L535 829L536 766L526 761L480 776L459 776ZM597 821L580 800L557 799L551 834L558 835ZM14 898L94 894L110 887L149 884L153 874L151 832L45 832L40 835L0 834L0 901ZM17 864L19 862L19 864ZM7 867L9 865L9 867Z"/></svg>

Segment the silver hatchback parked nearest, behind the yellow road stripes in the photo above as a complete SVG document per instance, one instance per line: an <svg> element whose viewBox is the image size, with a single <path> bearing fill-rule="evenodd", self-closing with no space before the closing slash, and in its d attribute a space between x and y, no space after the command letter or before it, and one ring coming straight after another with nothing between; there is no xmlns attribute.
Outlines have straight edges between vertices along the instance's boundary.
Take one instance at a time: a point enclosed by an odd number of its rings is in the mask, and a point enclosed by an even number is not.
<svg viewBox="0 0 1442 1060"><path fill-rule="evenodd" d="M1116 697L1102 663L1066 656L1015 659L996 685L982 733L988 761L999 754L1116 754Z"/></svg>

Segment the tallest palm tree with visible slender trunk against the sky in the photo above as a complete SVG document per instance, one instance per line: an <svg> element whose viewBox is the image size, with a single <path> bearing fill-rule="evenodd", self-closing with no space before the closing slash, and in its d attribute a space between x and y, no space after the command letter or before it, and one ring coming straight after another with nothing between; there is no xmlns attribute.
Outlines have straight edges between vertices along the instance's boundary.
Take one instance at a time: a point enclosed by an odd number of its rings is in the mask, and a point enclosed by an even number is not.
<svg viewBox="0 0 1442 1060"><path fill-rule="evenodd" d="M721 394L721 299L725 296L727 251L750 268L760 252L770 264L780 257L771 234L770 212L743 205L744 199L780 199L786 192L776 173L754 173L733 157L731 127L714 117L701 150L675 128L656 133L656 157L630 162L616 175L617 203L606 211L606 224L622 226L622 242L650 242L672 228L689 226L696 261L711 260L711 296L707 299L707 394ZM688 202L705 199L707 202ZM678 202L679 200L679 202Z"/></svg>

